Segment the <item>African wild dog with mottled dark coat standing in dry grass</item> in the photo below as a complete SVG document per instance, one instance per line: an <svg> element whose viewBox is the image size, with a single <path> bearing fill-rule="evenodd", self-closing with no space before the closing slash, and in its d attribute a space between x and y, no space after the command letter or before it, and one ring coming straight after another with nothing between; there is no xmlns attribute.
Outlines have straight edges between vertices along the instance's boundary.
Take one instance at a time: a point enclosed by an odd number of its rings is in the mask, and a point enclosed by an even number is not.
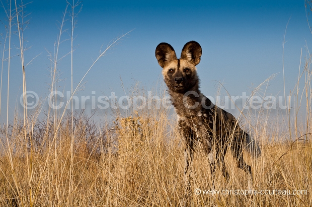
<svg viewBox="0 0 312 207"><path fill-rule="evenodd" d="M199 90L199 79L195 66L199 64L202 50L200 45L191 41L182 49L181 58L177 59L173 47L167 43L157 46L155 56L163 68L164 80L169 88L169 94L178 115L179 130L185 143L185 184L190 190L189 167L193 159L193 149L196 140L202 142L214 174L217 162L225 178L224 155L228 145L237 160L237 167L244 169L250 175L251 167L243 159L242 149L246 143L251 143L249 134L243 131L237 120L228 112L215 106ZM260 148L257 151L260 155ZM213 187L212 181L212 187ZM251 183L249 183L250 185Z"/></svg>

